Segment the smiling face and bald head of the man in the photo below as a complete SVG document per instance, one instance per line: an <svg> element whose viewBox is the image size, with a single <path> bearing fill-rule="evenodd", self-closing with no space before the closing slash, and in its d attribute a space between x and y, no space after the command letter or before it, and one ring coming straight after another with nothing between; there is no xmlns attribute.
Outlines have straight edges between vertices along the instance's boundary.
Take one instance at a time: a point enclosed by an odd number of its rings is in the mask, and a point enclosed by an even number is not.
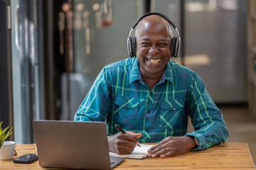
<svg viewBox="0 0 256 170"><path fill-rule="evenodd" d="M136 33L137 59L144 78L161 77L171 57L169 25L154 21L143 22Z"/></svg>

